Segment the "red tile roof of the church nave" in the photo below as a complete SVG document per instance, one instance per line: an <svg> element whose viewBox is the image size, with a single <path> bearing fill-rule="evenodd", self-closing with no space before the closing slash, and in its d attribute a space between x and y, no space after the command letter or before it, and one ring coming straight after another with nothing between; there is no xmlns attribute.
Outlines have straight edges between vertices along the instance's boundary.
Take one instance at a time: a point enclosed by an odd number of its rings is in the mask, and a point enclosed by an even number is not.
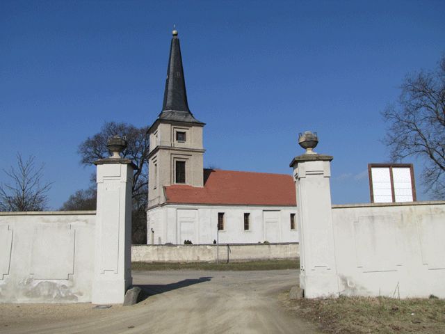
<svg viewBox="0 0 445 334"><path fill-rule="evenodd" d="M168 203L296 205L291 175L204 169L204 187L165 186Z"/></svg>

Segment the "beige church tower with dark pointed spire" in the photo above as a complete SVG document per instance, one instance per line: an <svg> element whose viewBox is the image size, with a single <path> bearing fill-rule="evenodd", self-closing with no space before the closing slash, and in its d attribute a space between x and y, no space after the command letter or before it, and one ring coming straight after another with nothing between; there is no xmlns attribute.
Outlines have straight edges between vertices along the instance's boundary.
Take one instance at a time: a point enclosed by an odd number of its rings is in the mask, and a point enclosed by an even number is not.
<svg viewBox="0 0 445 334"><path fill-rule="evenodd" d="M148 129L148 208L165 202L164 186L202 187L204 123L188 109L178 32L172 32L162 111Z"/></svg>

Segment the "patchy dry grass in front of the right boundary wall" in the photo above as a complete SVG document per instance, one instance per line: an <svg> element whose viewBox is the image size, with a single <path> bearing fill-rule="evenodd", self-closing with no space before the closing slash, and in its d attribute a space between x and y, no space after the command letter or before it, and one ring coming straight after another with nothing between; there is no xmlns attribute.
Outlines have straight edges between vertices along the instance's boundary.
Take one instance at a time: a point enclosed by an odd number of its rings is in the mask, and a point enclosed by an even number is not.
<svg viewBox="0 0 445 334"><path fill-rule="evenodd" d="M445 333L445 300L345 297L288 301L324 333Z"/></svg>

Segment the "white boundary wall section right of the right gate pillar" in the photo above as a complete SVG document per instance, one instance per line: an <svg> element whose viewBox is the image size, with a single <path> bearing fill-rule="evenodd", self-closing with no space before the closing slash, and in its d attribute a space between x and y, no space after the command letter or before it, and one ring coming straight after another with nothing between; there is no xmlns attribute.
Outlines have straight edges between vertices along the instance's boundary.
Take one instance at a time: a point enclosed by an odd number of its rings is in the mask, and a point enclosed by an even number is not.
<svg viewBox="0 0 445 334"><path fill-rule="evenodd" d="M332 207L339 293L445 298L445 202Z"/></svg>

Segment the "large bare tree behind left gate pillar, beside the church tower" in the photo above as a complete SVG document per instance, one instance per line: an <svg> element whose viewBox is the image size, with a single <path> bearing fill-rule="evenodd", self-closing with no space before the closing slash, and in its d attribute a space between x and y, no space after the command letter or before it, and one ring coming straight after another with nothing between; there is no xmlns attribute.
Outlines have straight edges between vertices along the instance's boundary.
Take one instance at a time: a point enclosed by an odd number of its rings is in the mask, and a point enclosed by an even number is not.
<svg viewBox="0 0 445 334"><path fill-rule="evenodd" d="M89 166L97 159L109 157L110 153L106 147L108 138L118 134L127 138L127 148L122 152L122 156L131 159L138 170L134 171L132 198L132 239L134 244L145 244L147 242L147 218L145 209L147 208L148 196L148 153L149 137L147 127L134 127L127 123L105 122L104 126L94 136L86 138L79 145L79 154L81 154L81 164ZM95 191L95 184L92 185L92 191ZM70 199L64 203L62 209L86 209L95 207L95 196L91 190L77 191Z"/></svg>

